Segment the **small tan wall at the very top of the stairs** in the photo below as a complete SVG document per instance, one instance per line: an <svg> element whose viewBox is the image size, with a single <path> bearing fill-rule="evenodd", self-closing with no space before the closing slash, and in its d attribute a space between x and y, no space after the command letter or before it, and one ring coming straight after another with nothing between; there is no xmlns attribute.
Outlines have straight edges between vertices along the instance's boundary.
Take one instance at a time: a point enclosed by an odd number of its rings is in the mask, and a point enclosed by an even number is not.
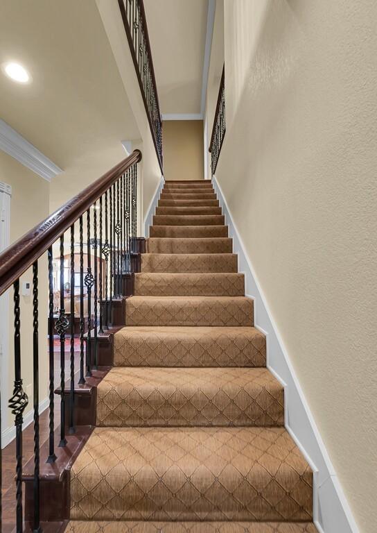
<svg viewBox="0 0 377 533"><path fill-rule="evenodd" d="M203 180L203 121L168 120L163 124L166 180Z"/></svg>

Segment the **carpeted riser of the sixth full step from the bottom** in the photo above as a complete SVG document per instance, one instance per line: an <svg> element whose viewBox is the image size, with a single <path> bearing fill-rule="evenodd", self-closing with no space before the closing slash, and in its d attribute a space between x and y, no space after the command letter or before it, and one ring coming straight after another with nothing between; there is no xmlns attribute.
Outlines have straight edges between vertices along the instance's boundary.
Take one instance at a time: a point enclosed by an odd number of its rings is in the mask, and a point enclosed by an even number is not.
<svg viewBox="0 0 377 533"><path fill-rule="evenodd" d="M148 254L141 255L141 272L201 273L237 272L236 254Z"/></svg>

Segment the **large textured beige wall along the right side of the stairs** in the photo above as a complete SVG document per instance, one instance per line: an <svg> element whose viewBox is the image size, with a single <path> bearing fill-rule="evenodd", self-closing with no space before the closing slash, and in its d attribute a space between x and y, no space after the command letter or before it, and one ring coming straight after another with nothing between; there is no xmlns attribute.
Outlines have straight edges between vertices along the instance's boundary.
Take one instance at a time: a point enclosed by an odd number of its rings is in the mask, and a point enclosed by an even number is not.
<svg viewBox="0 0 377 533"><path fill-rule="evenodd" d="M377 523L377 3L225 0L216 178L363 533Z"/></svg>

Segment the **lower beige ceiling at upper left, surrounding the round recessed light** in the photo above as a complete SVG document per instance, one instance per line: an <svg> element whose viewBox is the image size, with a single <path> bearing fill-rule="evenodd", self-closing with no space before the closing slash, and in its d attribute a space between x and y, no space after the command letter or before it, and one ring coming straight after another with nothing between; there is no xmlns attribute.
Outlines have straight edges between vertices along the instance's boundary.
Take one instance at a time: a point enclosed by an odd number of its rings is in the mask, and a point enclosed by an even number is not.
<svg viewBox="0 0 377 533"><path fill-rule="evenodd" d="M121 140L139 138L96 2L1 0L7 61L33 83L0 72L0 118L63 169L51 183L58 207L125 157Z"/></svg>

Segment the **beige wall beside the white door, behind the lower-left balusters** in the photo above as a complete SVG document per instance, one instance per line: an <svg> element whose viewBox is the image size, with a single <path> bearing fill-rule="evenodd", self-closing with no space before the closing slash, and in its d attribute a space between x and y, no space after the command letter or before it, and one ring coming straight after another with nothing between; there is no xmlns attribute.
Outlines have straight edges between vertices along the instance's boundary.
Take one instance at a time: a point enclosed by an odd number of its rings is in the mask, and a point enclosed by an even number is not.
<svg viewBox="0 0 377 533"><path fill-rule="evenodd" d="M49 214L49 188L50 184L26 169L10 155L0 151L0 181L8 183L12 187L10 200L10 244L33 228ZM47 354L47 310L48 310L48 278L46 257L38 262L40 271L39 278L39 336L40 336L40 401L46 398L48 392L48 354ZM28 269L20 278L23 281L32 282L33 273ZM8 346L8 397L12 394L14 380L14 350L13 350L13 291L9 294L9 346ZM21 372L24 379L24 390L28 392L29 404L25 414L33 408L33 294L21 296ZM4 352L6 352L6 349ZM8 409L8 424L14 424L14 418ZM5 431L6 428L1 428Z"/></svg>

